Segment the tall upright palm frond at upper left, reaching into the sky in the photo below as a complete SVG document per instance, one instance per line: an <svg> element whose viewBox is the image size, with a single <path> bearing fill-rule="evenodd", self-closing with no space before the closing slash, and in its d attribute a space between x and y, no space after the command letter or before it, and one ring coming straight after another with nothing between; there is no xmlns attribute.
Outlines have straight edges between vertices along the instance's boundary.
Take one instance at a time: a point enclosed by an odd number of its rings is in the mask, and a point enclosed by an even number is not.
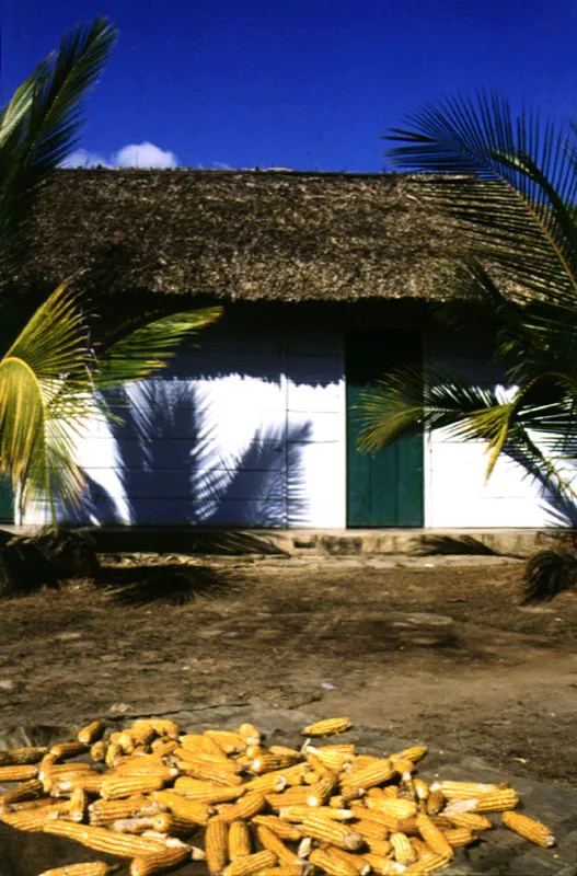
<svg viewBox="0 0 577 876"><path fill-rule="evenodd" d="M106 19L70 31L2 113L0 266L10 256L22 257L23 232L39 188L76 146L83 99L102 72L116 36Z"/></svg>

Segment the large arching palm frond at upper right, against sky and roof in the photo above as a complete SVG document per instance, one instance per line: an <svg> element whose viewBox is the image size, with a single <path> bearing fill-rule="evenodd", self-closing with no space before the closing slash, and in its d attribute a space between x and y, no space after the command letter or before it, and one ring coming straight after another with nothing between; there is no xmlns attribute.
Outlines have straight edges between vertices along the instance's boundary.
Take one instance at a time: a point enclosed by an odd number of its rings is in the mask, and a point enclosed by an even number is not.
<svg viewBox="0 0 577 876"><path fill-rule="evenodd" d="M500 270L528 299L577 301L577 174L569 126L515 115L482 93L429 104L388 139L396 166L426 171L424 200L458 223L463 246ZM438 174L442 176L439 177Z"/></svg>

